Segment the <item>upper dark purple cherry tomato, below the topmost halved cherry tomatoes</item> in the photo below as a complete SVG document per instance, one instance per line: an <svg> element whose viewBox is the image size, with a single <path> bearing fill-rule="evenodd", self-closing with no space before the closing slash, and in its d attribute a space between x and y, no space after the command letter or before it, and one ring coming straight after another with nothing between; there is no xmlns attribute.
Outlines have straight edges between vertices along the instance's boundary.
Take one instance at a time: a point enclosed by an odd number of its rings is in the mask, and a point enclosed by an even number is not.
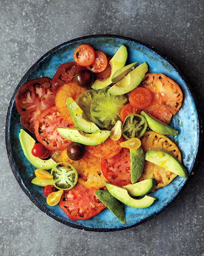
<svg viewBox="0 0 204 256"><path fill-rule="evenodd" d="M89 70L79 70L75 73L74 81L80 87L89 87L94 83L94 73Z"/></svg>

